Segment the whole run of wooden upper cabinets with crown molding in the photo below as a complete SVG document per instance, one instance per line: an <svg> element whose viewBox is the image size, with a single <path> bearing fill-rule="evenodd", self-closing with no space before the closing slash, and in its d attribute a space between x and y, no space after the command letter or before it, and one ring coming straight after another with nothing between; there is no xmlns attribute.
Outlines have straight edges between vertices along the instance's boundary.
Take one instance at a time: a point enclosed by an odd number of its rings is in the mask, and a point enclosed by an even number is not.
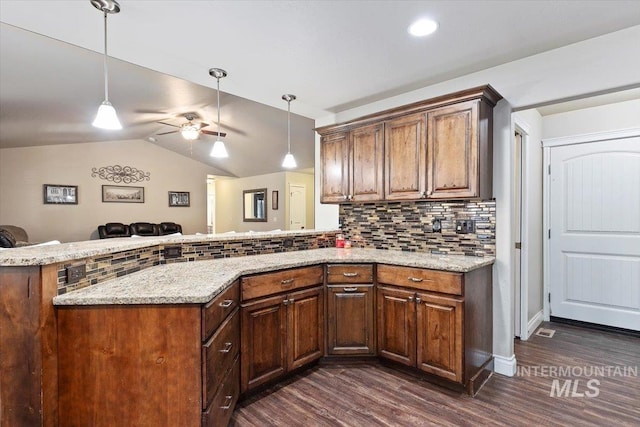
<svg viewBox="0 0 640 427"><path fill-rule="evenodd" d="M320 201L492 198L500 99L487 85L316 129Z"/></svg>

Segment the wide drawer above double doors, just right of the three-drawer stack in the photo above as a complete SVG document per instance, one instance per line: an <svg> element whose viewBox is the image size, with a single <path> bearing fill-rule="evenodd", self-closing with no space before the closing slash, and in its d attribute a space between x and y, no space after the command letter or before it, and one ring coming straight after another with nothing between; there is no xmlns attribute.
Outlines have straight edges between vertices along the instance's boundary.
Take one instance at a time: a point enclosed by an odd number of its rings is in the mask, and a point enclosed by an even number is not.
<svg viewBox="0 0 640 427"><path fill-rule="evenodd" d="M319 265L243 277L242 300L320 285L322 279L323 268Z"/></svg>

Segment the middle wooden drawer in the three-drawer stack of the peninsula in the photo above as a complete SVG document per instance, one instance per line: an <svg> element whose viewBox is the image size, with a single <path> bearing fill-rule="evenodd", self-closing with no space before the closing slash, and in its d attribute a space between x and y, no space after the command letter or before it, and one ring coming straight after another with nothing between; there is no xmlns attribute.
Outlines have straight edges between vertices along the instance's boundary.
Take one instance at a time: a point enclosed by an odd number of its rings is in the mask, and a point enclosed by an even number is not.
<svg viewBox="0 0 640 427"><path fill-rule="evenodd" d="M240 349L239 309L202 346L202 407L206 408Z"/></svg>

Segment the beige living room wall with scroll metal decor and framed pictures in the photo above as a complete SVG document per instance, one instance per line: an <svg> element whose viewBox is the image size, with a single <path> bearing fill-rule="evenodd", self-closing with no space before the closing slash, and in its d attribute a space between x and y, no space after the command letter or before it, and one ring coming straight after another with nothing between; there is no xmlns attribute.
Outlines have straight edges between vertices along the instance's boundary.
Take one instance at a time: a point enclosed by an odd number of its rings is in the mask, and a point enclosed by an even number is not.
<svg viewBox="0 0 640 427"><path fill-rule="evenodd" d="M144 203L102 203L94 167L127 165L151 173ZM0 224L23 227L31 241L97 238L106 222L173 221L185 234L206 232L206 178L212 168L141 140L0 150ZM78 205L45 205L43 184L78 186ZM168 206L168 191L189 191L191 207Z"/></svg>

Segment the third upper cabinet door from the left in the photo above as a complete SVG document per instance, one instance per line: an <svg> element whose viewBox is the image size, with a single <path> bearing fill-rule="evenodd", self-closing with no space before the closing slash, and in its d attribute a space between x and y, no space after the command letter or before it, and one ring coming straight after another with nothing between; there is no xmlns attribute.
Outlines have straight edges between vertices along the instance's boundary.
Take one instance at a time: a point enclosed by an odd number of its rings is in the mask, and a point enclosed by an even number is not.
<svg viewBox="0 0 640 427"><path fill-rule="evenodd" d="M427 145L424 113L385 124L385 198L411 200L426 196Z"/></svg>

